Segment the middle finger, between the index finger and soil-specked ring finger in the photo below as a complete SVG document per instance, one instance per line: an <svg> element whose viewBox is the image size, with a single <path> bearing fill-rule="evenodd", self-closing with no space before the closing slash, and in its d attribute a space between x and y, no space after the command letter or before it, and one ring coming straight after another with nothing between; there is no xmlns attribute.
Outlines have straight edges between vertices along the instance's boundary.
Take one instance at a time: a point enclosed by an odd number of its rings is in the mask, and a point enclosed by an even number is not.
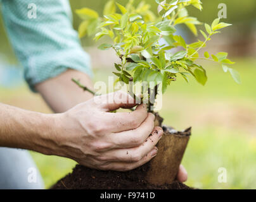
<svg viewBox="0 0 256 202"><path fill-rule="evenodd" d="M108 136L114 148L131 148L144 143L154 128L155 115L148 113L145 121L136 129L112 133Z"/></svg>

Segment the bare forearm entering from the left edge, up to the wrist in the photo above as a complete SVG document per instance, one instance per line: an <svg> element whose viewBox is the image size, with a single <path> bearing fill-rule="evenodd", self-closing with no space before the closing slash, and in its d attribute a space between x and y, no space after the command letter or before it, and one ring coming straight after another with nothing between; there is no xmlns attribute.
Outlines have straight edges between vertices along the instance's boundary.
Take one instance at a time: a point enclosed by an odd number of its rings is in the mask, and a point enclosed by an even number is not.
<svg viewBox="0 0 256 202"><path fill-rule="evenodd" d="M51 154L55 116L0 104L0 146Z"/></svg>

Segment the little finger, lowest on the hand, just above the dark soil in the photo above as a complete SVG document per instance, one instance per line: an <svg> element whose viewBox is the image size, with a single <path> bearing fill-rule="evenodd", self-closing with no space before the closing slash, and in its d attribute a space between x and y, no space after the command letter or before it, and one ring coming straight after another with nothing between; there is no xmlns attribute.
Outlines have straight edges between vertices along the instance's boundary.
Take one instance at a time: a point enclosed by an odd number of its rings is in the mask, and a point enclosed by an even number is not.
<svg viewBox="0 0 256 202"><path fill-rule="evenodd" d="M102 165L99 167L100 170L115 170L115 171L128 171L133 170L141 165L144 165L144 163L149 162L153 157L157 155L157 150L154 148L148 155L144 156L139 162L132 162L132 163L124 163L124 162L112 162L108 163L106 165Z"/></svg>

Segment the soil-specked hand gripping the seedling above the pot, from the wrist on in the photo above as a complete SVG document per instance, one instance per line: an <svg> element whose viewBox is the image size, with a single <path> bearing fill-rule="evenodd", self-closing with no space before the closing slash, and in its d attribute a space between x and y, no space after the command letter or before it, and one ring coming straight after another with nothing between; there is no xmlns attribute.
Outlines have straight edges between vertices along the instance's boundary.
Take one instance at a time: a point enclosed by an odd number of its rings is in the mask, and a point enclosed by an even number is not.
<svg viewBox="0 0 256 202"><path fill-rule="evenodd" d="M155 116L144 104L133 112L111 112L134 106L134 99L119 91L57 114L54 124L59 130L48 137L54 143L50 153L99 170L126 171L143 165L157 155L155 145L163 131L154 128Z"/></svg>

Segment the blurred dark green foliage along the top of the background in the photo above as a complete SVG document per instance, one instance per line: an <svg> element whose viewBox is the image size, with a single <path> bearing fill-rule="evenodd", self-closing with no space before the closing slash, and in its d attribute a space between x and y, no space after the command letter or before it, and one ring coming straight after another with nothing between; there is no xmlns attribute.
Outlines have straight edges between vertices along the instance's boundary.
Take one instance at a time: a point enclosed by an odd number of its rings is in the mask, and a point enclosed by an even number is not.
<svg viewBox="0 0 256 202"><path fill-rule="evenodd" d="M72 0L70 4L72 6L72 11L74 12L74 28L77 30L79 27L79 23L81 20L79 16L75 14L75 9L79 9L82 7L88 7L95 9L99 13L103 12L103 6L108 0L98 0L98 1L82 1L82 0ZM127 0L117 0L118 3L125 4ZM139 0L136 0L136 3L139 3ZM147 3L154 6L155 13L157 13L157 3L155 0L147 0ZM203 3L203 11L200 12L195 8L189 9L189 15L195 16L200 21L205 21L210 23L213 18L217 18L217 13L219 11L218 5L219 3L227 4L227 21L229 23L233 23L234 27L239 26L242 28L237 28L236 32L250 32L253 24L255 23L256 18L256 1L255 0L246 0L241 3L240 0L202 0ZM224 20L226 21L226 20ZM3 21L2 16L0 16L0 52L3 52L6 55L13 56L13 51L10 48L10 43L6 39L6 34L3 30ZM84 45L91 45L91 40L84 40Z"/></svg>

